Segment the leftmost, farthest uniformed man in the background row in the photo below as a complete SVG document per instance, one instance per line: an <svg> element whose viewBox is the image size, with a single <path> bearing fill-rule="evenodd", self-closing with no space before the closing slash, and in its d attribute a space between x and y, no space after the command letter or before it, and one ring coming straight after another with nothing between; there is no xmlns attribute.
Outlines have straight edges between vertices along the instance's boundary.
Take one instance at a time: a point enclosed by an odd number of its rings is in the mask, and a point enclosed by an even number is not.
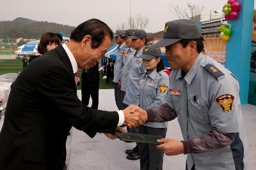
<svg viewBox="0 0 256 170"><path fill-rule="evenodd" d="M116 30L114 34L115 41L119 45L116 55L116 61L114 65L114 79L113 83L115 86L115 101L116 106L118 109L123 108L123 101L122 101L122 94L121 94L121 76L122 76L122 68L124 66L123 63L123 53L125 49L125 42L124 42L124 31L123 30Z"/></svg>

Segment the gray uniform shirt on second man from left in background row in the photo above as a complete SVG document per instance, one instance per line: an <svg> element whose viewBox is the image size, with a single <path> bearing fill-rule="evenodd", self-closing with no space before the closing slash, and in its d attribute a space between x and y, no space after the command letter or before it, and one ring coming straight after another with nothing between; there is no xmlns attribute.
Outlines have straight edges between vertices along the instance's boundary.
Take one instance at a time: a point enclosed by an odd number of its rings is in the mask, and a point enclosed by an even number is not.
<svg viewBox="0 0 256 170"><path fill-rule="evenodd" d="M122 77L121 77L121 81L122 81L121 90L124 92L126 92L128 74L130 72L131 62L132 62L132 59L134 58L135 52L136 50L134 50L133 48L125 48L124 50L123 59L125 62L124 62L124 67L122 69Z"/></svg>

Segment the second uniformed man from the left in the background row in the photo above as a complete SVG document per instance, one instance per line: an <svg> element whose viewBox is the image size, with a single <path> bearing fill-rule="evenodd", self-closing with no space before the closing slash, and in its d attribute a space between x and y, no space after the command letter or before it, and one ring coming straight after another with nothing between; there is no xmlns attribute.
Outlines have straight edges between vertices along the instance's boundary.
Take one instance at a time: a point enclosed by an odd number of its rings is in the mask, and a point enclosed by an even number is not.
<svg viewBox="0 0 256 170"><path fill-rule="evenodd" d="M123 63L124 67L122 69L122 77L121 77L121 92L122 92L122 101L124 101L124 96L126 92L126 87L127 87L127 80L128 80L128 74L129 70L131 68L131 61L134 57L134 54L136 50L132 48L132 39L128 38L129 36L132 35L133 29L128 29L125 30L125 45L126 48L124 49L124 54L123 54ZM128 105L123 103L123 108L126 108Z"/></svg>

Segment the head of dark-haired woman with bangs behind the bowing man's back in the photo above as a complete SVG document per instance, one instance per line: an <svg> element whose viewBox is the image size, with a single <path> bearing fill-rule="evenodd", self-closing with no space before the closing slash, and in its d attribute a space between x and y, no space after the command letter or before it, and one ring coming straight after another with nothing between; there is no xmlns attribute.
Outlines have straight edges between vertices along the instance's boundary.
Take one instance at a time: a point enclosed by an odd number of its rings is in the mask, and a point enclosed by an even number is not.
<svg viewBox="0 0 256 170"><path fill-rule="evenodd" d="M46 32L42 35L38 44L37 51L44 54L60 45L60 38L56 33Z"/></svg>

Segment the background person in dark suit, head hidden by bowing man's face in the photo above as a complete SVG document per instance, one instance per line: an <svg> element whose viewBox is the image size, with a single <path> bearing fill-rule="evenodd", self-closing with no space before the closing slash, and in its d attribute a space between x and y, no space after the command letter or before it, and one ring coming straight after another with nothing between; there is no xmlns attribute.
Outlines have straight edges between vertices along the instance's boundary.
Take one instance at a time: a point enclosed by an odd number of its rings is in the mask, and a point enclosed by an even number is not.
<svg viewBox="0 0 256 170"><path fill-rule="evenodd" d="M88 106L90 96L92 97L92 108L98 109L99 105L99 64L96 64L91 69L83 70L82 72L82 103Z"/></svg>

